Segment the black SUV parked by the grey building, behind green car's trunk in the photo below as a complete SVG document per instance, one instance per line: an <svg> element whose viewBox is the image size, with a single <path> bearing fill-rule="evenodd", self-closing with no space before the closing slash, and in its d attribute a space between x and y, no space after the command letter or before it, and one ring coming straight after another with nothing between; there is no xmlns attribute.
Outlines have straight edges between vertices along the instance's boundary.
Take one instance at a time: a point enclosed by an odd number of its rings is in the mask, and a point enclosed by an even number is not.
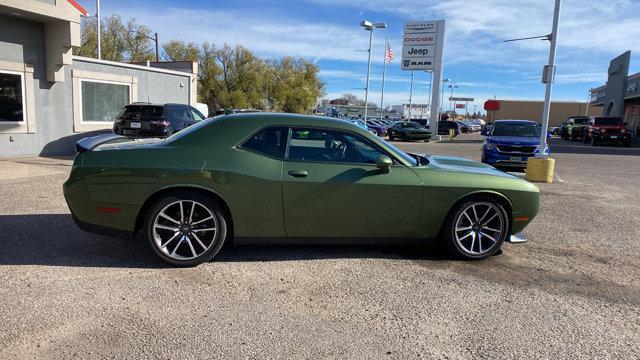
<svg viewBox="0 0 640 360"><path fill-rule="evenodd" d="M133 103L115 118L113 132L130 137L165 137L204 119L189 105Z"/></svg>

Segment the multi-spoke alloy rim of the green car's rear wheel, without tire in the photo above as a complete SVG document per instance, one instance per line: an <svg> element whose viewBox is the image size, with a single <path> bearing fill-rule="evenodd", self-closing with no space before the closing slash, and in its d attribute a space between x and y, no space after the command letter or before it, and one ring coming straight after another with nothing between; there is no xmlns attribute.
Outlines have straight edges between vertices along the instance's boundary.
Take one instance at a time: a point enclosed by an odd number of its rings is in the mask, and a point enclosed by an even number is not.
<svg viewBox="0 0 640 360"><path fill-rule="evenodd" d="M175 260L191 260L215 243L218 219L206 206L179 200L165 206L153 223L156 247Z"/></svg>

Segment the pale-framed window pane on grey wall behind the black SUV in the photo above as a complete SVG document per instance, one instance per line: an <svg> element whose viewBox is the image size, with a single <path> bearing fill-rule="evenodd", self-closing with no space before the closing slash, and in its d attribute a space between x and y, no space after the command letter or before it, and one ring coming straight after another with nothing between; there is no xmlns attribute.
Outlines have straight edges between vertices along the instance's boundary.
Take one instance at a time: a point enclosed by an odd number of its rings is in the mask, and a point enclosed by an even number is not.
<svg viewBox="0 0 640 360"><path fill-rule="evenodd" d="M81 81L82 121L112 122L131 101L131 84Z"/></svg>

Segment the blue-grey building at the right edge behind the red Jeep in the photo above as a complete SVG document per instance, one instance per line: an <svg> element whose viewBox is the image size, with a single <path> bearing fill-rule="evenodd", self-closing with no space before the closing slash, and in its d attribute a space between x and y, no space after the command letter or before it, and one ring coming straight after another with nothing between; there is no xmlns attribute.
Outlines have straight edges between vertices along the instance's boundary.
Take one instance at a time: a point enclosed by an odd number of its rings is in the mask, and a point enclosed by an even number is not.
<svg viewBox="0 0 640 360"><path fill-rule="evenodd" d="M598 109L598 115L623 118L637 143L640 142L640 73L628 74L630 60L631 51L611 60L607 83L591 89L589 104Z"/></svg>

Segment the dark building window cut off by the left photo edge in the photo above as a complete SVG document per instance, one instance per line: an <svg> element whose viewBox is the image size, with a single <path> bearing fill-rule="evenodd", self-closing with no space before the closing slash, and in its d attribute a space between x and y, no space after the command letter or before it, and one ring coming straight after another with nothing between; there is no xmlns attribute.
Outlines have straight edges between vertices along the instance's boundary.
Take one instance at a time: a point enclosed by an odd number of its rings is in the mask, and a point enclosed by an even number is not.
<svg viewBox="0 0 640 360"><path fill-rule="evenodd" d="M23 122L25 117L24 77L0 72L0 122Z"/></svg>

